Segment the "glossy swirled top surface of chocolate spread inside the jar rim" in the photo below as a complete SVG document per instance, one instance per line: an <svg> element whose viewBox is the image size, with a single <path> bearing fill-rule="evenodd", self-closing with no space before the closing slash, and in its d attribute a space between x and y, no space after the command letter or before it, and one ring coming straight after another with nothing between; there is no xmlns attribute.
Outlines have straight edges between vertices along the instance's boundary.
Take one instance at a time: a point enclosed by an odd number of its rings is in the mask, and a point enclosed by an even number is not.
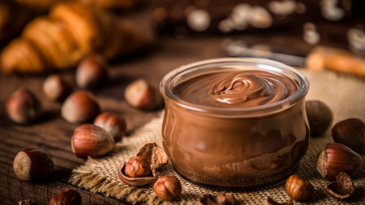
<svg viewBox="0 0 365 205"><path fill-rule="evenodd" d="M297 89L295 82L281 74L248 70L198 76L178 85L173 93L210 107L255 107L284 100Z"/></svg>

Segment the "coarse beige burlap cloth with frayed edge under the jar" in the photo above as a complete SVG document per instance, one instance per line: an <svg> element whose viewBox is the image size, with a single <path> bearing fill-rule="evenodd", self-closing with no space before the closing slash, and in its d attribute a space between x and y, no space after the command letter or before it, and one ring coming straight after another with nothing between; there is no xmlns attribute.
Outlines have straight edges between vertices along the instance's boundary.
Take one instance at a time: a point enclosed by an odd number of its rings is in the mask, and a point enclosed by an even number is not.
<svg viewBox="0 0 365 205"><path fill-rule="evenodd" d="M319 99L326 102L334 112L334 123L351 117L365 120L365 80L337 74L330 71L314 72L301 70L310 81L308 99ZM147 141L156 141L161 146L161 117L151 120L137 129L131 136L125 137L122 142L107 156L99 159L89 158L84 165L73 170L71 182L91 192L103 193L107 197L114 197L132 204L168 204L161 201L153 192L152 185L147 188L129 187L118 178L118 167L121 162L134 156L138 147ZM328 142L333 142L330 130L325 136L311 138L307 154L300 162L296 174L307 178L315 187L312 204L365 204L365 168L352 178L355 193L348 200L341 201L331 198L324 190L328 181L322 179L315 169L318 152ZM364 157L363 157L364 158ZM157 171L158 176L174 175L183 187L181 197L176 204L195 204L203 194L216 194L218 191L204 189L193 185L181 178L172 168L171 163ZM157 177L158 177L157 176ZM278 202L288 200L285 183L254 192L234 192L238 204L262 204L267 197Z"/></svg>

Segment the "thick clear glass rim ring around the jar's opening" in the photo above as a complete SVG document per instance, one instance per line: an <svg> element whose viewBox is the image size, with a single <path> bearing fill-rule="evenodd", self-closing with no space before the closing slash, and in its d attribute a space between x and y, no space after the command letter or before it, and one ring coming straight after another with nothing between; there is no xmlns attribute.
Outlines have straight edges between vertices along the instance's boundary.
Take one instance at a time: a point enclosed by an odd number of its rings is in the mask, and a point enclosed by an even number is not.
<svg viewBox="0 0 365 205"><path fill-rule="evenodd" d="M293 76L297 77L299 80L299 88L297 91L291 96L285 98L284 100L273 102L271 104L259 105L255 107L243 107L243 108L227 108L227 107L210 107L207 105L198 105L193 104L191 102L185 101L175 94L173 94L170 84L174 80L178 74L187 71L193 68L199 68L203 66L210 66L217 63L221 63L220 65L249 65L249 64L260 64L264 65L260 67L263 70L273 71L273 68L281 69L283 71L288 71ZM266 66L265 66L266 65ZM270 69L271 68L271 69ZM298 69L294 67L285 65L284 63L269 60L269 59L261 59L261 58L214 58L203 61L197 61L194 63L189 63L187 65L183 65L177 67L170 71L164 78L162 78L160 82L160 93L162 97L164 97L165 101L174 101L180 107L185 109L205 113L207 115L218 115L218 116L226 116L226 117L253 117L257 116L257 113L265 113L266 115L274 114L277 112L281 112L285 109L292 107L297 104L297 102L302 101L309 89L309 81L303 73L301 73Z"/></svg>

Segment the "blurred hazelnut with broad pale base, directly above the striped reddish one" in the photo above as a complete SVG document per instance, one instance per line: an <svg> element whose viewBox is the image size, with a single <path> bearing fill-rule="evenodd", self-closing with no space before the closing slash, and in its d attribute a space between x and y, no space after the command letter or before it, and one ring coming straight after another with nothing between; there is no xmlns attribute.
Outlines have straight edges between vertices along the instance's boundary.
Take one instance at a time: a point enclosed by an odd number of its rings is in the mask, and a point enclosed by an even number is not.
<svg viewBox="0 0 365 205"><path fill-rule="evenodd" d="M70 123L80 124L94 119L99 110L99 105L91 94L77 90L62 104L61 116Z"/></svg>

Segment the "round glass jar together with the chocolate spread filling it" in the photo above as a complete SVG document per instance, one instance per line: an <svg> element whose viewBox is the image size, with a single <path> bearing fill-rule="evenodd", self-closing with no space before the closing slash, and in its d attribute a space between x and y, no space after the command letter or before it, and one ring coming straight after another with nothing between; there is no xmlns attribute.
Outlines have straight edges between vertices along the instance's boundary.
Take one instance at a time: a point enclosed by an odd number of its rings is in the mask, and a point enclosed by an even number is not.
<svg viewBox="0 0 365 205"><path fill-rule="evenodd" d="M274 183L291 174L307 151L309 84L280 63L288 70L229 65L235 61L246 60L230 58L225 67L202 62L201 69L166 75L160 85L162 144L176 171L192 181L229 187Z"/></svg>

